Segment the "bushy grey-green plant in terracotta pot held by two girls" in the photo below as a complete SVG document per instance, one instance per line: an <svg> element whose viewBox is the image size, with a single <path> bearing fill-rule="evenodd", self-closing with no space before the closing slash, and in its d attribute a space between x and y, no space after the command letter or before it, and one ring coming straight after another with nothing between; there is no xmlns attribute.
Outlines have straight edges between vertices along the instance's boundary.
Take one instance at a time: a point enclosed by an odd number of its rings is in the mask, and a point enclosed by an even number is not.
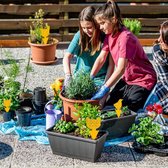
<svg viewBox="0 0 168 168"><path fill-rule="evenodd" d="M78 72L59 95L63 101L64 120L76 121L78 119L73 113L76 111L75 103L79 106L84 102L99 105L99 100L90 100L96 91L97 87L90 78L90 74Z"/></svg>

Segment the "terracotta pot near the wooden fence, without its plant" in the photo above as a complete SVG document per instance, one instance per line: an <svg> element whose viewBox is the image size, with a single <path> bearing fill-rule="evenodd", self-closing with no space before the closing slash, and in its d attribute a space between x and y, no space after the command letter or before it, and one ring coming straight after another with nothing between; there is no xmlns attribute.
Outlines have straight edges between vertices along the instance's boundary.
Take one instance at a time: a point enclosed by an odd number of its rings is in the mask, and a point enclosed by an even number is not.
<svg viewBox="0 0 168 168"><path fill-rule="evenodd" d="M31 60L35 64L53 64L56 62L56 46L58 40L54 39L53 44L34 44L28 42L31 47Z"/></svg>

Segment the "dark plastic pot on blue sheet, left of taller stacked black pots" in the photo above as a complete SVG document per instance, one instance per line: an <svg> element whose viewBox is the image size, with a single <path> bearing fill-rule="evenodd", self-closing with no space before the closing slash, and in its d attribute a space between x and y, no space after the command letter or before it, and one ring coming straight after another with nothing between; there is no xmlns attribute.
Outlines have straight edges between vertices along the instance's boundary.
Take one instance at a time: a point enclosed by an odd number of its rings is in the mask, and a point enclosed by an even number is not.
<svg viewBox="0 0 168 168"><path fill-rule="evenodd" d="M16 110L18 119L18 125L21 127L30 126L32 109L30 107L23 106Z"/></svg>

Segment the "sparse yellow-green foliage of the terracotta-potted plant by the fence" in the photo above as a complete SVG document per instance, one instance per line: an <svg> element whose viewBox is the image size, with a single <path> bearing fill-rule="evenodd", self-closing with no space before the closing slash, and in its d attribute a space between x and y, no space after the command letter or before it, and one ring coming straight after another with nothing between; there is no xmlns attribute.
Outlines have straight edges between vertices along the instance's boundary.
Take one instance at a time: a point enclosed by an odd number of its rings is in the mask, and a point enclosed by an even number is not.
<svg viewBox="0 0 168 168"><path fill-rule="evenodd" d="M32 26L30 26L30 38L31 43L42 44L42 34L41 29L47 27L47 23L44 23L44 11L39 9L35 12L34 18L32 20Z"/></svg>

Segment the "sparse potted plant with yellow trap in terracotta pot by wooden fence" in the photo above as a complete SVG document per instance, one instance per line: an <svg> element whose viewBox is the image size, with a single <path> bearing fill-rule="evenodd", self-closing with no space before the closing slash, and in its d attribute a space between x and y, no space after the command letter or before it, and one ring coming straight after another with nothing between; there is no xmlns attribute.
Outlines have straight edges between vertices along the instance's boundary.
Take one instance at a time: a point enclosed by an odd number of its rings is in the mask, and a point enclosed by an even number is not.
<svg viewBox="0 0 168 168"><path fill-rule="evenodd" d="M32 26L28 44L32 51L32 62L36 64L52 64L56 61L58 40L50 37L50 26L44 23L44 14L43 9L39 9L34 18L30 18Z"/></svg>

